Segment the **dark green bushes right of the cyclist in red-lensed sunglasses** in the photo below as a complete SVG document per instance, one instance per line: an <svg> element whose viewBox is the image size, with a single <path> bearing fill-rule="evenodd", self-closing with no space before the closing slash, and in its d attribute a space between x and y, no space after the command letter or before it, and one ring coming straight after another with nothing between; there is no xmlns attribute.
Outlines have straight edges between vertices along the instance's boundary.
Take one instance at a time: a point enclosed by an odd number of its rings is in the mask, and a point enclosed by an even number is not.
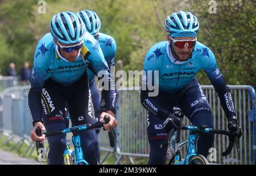
<svg viewBox="0 0 256 176"><path fill-rule="evenodd" d="M191 2L201 24L199 40L213 51L226 82L255 87L256 2L216 2L216 14L203 0Z"/></svg>

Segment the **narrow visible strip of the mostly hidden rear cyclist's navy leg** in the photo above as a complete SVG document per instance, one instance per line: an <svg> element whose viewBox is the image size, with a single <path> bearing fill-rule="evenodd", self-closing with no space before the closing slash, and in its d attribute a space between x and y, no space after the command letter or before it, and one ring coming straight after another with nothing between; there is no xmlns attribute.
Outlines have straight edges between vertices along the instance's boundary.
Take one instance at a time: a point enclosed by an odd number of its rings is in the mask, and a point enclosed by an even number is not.
<svg viewBox="0 0 256 176"><path fill-rule="evenodd" d="M98 110L100 110L100 96L98 95L98 89L95 80L91 81L89 83L90 85L90 93L92 94L92 101L93 101L93 108L95 112L95 121L96 123L100 121L100 113L97 113ZM100 141L99 141L99 133L100 129L96 129L96 153L97 153L97 160L100 163Z"/></svg>

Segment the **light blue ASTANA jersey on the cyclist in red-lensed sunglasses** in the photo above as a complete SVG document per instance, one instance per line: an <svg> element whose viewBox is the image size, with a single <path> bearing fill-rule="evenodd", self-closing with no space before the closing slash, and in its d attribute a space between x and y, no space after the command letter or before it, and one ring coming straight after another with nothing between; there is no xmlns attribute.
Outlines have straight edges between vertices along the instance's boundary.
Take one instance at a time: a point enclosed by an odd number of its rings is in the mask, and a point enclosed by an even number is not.
<svg viewBox="0 0 256 176"><path fill-rule="evenodd" d="M197 42L187 61L176 61L170 51L170 44L162 41L148 51L144 60L144 70L159 70L159 90L175 93L183 89L200 69L213 83L223 81L216 59L205 45Z"/></svg>

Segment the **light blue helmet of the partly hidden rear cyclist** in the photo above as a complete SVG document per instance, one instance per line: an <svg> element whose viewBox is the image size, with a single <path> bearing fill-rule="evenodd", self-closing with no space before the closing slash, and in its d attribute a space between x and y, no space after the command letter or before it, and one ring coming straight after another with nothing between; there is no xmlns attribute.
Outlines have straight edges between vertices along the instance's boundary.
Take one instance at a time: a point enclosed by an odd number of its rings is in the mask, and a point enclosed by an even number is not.
<svg viewBox="0 0 256 176"><path fill-rule="evenodd" d="M77 12L79 16L81 17L82 21L85 24L86 30L92 34L95 35L98 31L100 31L101 28L101 20L98 18L98 15L96 12L92 10L82 10L80 12Z"/></svg>

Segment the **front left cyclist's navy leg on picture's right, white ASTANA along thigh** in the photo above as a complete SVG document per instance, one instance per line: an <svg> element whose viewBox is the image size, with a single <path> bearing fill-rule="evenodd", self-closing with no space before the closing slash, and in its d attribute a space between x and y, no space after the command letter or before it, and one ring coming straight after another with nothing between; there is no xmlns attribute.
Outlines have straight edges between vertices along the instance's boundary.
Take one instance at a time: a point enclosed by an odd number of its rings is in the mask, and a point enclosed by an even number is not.
<svg viewBox="0 0 256 176"><path fill-rule="evenodd" d="M88 103L89 100L90 103ZM73 93L69 98L68 106L72 125L95 123L91 94L86 76L83 76L79 81L74 83ZM97 164L95 129L89 129L85 132L81 132L80 137L85 160L89 164Z"/></svg>

